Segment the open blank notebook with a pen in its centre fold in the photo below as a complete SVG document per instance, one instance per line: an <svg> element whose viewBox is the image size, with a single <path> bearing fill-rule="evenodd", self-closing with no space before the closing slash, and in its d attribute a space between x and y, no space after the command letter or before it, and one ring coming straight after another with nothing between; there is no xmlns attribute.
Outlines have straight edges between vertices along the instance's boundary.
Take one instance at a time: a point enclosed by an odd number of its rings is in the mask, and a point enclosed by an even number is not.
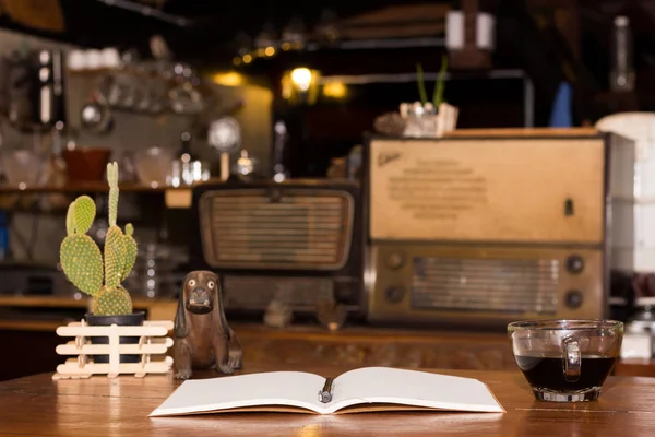
<svg viewBox="0 0 655 437"><path fill-rule="evenodd" d="M190 379L150 416L229 411L333 414L426 409L504 412L487 386L477 379L364 367L334 379L301 371Z"/></svg>

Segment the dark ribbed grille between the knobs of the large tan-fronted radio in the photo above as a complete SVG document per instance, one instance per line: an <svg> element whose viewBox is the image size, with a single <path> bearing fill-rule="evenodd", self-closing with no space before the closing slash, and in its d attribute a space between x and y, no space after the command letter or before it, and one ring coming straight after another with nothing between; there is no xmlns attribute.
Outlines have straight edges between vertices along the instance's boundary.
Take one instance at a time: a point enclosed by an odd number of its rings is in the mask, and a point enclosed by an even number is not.
<svg viewBox="0 0 655 437"><path fill-rule="evenodd" d="M415 258L412 306L555 314L559 260Z"/></svg>

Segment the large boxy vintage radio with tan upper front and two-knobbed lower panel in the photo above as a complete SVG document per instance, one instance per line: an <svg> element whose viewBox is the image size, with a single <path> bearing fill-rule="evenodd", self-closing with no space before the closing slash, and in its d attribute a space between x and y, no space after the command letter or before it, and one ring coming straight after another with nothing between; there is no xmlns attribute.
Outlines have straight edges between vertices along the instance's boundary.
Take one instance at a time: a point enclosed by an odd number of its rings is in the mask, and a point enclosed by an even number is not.
<svg viewBox="0 0 655 437"><path fill-rule="evenodd" d="M610 214L631 192L634 144L555 132L368 142L371 322L608 315L610 231L632 227L629 210Z"/></svg>

